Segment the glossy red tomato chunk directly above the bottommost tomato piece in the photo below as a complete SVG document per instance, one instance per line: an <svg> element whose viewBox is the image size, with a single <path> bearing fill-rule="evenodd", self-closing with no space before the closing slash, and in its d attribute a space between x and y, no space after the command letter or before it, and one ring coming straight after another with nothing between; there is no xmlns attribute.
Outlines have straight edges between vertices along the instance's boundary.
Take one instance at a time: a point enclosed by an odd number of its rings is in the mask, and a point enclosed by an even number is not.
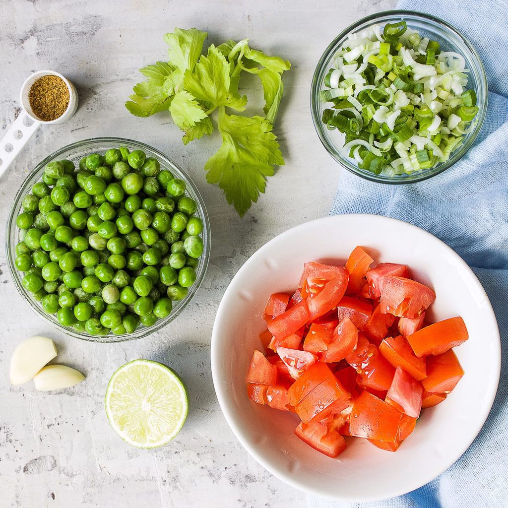
<svg viewBox="0 0 508 508"><path fill-rule="evenodd" d="M295 410L303 423L319 422L330 414L342 411L350 399L351 394L332 375L332 378L317 385L304 397Z"/></svg>

